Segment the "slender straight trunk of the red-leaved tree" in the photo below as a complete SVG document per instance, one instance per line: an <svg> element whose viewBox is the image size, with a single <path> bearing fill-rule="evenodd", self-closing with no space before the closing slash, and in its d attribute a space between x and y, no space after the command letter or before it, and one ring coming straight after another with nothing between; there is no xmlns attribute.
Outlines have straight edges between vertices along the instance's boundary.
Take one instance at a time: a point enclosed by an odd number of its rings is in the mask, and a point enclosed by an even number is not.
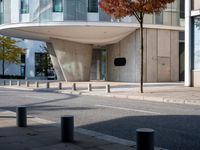
<svg viewBox="0 0 200 150"><path fill-rule="evenodd" d="M140 38L141 38L141 49L140 49L140 55L141 55L141 70L140 70L140 92L143 93L143 57L144 57L144 39L143 39L143 16L140 15L141 21L140 21Z"/></svg>

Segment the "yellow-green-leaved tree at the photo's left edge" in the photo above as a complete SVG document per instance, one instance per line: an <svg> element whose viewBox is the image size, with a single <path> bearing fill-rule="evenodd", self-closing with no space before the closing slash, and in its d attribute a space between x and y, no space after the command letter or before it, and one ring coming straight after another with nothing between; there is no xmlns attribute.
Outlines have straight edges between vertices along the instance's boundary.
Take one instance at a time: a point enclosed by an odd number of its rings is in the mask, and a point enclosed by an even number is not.
<svg viewBox="0 0 200 150"><path fill-rule="evenodd" d="M20 48L17 41L10 37L0 36L0 61L2 61L2 75L5 73L5 62L9 64L20 64L21 55L26 49Z"/></svg>

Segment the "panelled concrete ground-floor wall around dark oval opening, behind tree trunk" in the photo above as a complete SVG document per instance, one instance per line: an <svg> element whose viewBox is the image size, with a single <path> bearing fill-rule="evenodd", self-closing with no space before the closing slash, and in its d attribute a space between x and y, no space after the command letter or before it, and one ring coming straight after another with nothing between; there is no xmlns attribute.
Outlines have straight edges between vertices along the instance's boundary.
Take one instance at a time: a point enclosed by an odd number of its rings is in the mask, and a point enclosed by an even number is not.
<svg viewBox="0 0 200 150"><path fill-rule="evenodd" d="M117 44L108 46L110 81L138 82L140 80L139 30ZM179 81L179 32L160 29L144 30L144 81ZM126 58L125 66L115 66L114 59Z"/></svg>

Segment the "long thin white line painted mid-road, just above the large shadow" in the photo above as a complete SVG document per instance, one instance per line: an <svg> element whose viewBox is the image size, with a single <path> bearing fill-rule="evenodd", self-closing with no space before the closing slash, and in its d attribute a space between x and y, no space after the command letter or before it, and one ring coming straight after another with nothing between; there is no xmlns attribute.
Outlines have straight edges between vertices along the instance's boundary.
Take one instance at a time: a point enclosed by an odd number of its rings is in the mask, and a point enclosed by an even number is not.
<svg viewBox="0 0 200 150"><path fill-rule="evenodd" d="M140 110L140 109L130 109L130 108L124 108L124 107L115 107L115 106L106 106L106 105L95 105L96 107L103 107L103 108L111 108L111 109L119 109L119 110L126 110L126 111L135 111L135 112L141 112L141 113L147 113L147 114L155 114L160 115L159 112L154 111L147 111L147 110Z"/></svg>

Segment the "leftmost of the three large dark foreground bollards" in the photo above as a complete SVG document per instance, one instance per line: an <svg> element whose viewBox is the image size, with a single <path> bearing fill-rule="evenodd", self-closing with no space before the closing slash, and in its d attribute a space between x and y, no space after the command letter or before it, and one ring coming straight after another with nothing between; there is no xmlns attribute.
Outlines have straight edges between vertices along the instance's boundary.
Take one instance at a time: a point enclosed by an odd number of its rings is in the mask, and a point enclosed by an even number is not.
<svg viewBox="0 0 200 150"><path fill-rule="evenodd" d="M16 107L16 124L18 127L26 127L27 126L27 113L25 106Z"/></svg>

